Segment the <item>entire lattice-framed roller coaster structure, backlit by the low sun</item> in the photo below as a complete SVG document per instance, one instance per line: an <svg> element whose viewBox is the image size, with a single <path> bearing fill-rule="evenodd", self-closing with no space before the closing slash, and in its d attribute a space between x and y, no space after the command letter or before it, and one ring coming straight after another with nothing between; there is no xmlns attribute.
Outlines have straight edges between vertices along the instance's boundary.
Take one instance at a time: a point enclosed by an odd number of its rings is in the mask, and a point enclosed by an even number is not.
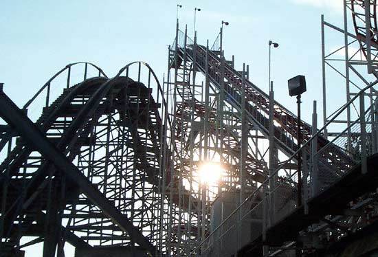
<svg viewBox="0 0 378 257"><path fill-rule="evenodd" d="M73 63L21 109L1 85L0 256L40 244L61 257L66 243L75 256L374 256L377 4L344 0L347 12L353 32L322 25L344 34L346 72L374 82L321 128L316 108L298 122L225 60L220 36L200 45L178 20L162 84L143 62L113 78Z"/></svg>

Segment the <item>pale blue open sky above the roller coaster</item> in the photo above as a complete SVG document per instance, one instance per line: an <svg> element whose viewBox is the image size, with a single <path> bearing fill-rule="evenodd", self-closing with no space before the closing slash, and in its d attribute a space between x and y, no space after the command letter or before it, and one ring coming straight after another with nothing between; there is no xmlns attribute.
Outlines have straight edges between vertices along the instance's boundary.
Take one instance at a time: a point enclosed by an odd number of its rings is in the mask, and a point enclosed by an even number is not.
<svg viewBox="0 0 378 257"><path fill-rule="evenodd" d="M306 76L302 117L311 122L312 102L317 100L321 109L322 100L320 15L341 27L340 0L2 0L0 82L5 93L22 107L56 71L77 61L94 63L114 76L124 65L143 60L162 82L178 3L183 5L180 29L187 24L190 35L194 8L201 8L196 28L203 45L207 39L212 44L222 20L230 23L223 34L226 58L234 55L238 69L248 64L250 80L265 91L268 41L279 43L271 56L276 100L296 113L287 80ZM334 39L326 44L337 49Z"/></svg>

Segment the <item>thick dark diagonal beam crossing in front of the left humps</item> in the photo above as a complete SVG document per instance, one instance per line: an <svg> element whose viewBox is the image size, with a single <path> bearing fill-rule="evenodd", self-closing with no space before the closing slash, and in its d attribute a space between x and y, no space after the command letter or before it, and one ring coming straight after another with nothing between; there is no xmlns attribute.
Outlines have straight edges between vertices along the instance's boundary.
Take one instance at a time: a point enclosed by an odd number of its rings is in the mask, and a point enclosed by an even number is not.
<svg viewBox="0 0 378 257"><path fill-rule="evenodd" d="M127 232L135 243L144 247L151 255L155 255L155 247L142 232L126 216L120 213L104 194L96 186L93 186L87 177L52 142L49 142L43 132L5 95L3 90L0 90L0 116L5 122L14 126L19 135L28 144L34 146L41 155L52 161L56 168L65 172L79 186L88 199L97 205L122 231Z"/></svg>

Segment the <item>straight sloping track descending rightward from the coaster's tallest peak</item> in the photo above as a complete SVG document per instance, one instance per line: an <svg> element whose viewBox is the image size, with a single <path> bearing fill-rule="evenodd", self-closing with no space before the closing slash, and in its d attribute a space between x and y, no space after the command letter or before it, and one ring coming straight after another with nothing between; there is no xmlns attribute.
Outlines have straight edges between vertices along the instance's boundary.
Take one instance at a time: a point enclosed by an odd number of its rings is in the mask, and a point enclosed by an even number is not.
<svg viewBox="0 0 378 257"><path fill-rule="evenodd" d="M183 36L183 32L180 32ZM179 40L180 41L180 40ZM177 47L177 58L181 60L188 58L191 61L196 61L199 71L202 74L206 74L208 71L208 76L210 82L217 89L221 89L221 59L216 56L214 52L208 51L208 60L206 60L206 48L201 45L194 46L194 43L187 39L188 43L186 47L184 45L179 45ZM194 47L195 57L194 57ZM172 65L174 62L171 62ZM179 61L178 63L181 63ZM206 67L207 65L207 67ZM224 68L224 91L225 91L225 101L232 107L241 110L241 96L242 96L242 78L241 74L236 71L230 65L225 63ZM261 89L256 87L252 82L245 81L245 96L246 96L246 111L249 118L249 122L252 122L254 126L258 127L259 131L269 137L269 96ZM276 138L276 144L280 150L287 154L287 156L292 155L297 149L297 118L296 115L291 113L285 107L283 107L278 102L274 102L274 137ZM301 122L300 129L303 131L303 139L308 140L311 137L311 126L306 122ZM324 137L318 137L318 148L322 148L328 144L328 141ZM325 172L333 170L340 177L342 174L350 170L350 168L355 164L355 161L348 157L344 151L337 147L332 146L328 151L322 153L322 166L326 167ZM328 171L327 171L328 170Z"/></svg>

